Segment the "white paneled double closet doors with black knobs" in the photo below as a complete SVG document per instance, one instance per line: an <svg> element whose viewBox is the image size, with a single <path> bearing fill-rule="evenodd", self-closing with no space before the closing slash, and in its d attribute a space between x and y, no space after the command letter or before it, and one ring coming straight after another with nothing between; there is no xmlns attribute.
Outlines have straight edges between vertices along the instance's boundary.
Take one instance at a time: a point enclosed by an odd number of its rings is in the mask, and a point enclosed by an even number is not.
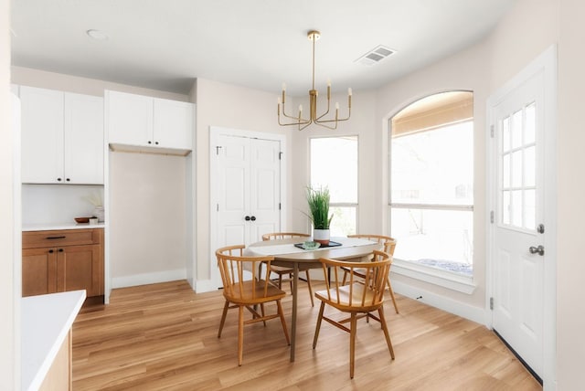
<svg viewBox="0 0 585 391"><path fill-rule="evenodd" d="M281 142L219 134L210 153L211 219L216 219L211 252L248 246L261 241L264 233L280 231ZM211 262L211 280L219 286L215 264Z"/></svg>

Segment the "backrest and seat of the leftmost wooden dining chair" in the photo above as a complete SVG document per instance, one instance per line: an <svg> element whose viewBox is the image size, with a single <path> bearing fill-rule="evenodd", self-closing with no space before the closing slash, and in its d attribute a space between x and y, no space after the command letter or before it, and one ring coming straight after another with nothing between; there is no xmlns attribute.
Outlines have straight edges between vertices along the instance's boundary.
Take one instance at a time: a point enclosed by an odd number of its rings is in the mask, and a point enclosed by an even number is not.
<svg viewBox="0 0 585 391"><path fill-rule="evenodd" d="M244 256L244 245L228 246L218 248L218 268L223 283L223 294L227 298L238 302L255 302L258 299L267 297L270 284L269 280L272 256L246 257ZM263 276L259 266L264 263L268 265L263 268Z"/></svg>

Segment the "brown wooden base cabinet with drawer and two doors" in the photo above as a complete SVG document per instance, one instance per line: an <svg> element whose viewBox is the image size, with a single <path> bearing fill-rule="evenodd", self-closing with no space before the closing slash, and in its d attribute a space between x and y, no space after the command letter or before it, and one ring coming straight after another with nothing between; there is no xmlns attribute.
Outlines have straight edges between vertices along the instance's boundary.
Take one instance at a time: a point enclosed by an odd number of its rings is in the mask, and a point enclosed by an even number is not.
<svg viewBox="0 0 585 391"><path fill-rule="evenodd" d="M22 295L103 295L103 229L23 232Z"/></svg>

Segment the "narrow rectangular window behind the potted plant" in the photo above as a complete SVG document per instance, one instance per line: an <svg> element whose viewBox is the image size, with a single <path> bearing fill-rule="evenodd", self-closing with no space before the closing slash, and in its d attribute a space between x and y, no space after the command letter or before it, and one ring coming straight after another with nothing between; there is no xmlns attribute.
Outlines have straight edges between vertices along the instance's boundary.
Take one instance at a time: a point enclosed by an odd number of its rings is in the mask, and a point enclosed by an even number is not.
<svg viewBox="0 0 585 391"><path fill-rule="evenodd" d="M311 186L331 193L331 236L356 233L357 137L311 139Z"/></svg>

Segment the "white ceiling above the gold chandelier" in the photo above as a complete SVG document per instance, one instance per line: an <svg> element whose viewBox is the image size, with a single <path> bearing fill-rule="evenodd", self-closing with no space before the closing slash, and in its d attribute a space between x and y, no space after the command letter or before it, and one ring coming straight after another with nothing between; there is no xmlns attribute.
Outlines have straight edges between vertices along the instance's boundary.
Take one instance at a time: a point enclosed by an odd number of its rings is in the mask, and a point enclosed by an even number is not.
<svg viewBox="0 0 585 391"><path fill-rule="evenodd" d="M515 0L13 0L12 63L186 94L212 79L275 96L376 88L482 39ZM99 29L107 40L93 40ZM356 62L383 45L397 52Z"/></svg>

